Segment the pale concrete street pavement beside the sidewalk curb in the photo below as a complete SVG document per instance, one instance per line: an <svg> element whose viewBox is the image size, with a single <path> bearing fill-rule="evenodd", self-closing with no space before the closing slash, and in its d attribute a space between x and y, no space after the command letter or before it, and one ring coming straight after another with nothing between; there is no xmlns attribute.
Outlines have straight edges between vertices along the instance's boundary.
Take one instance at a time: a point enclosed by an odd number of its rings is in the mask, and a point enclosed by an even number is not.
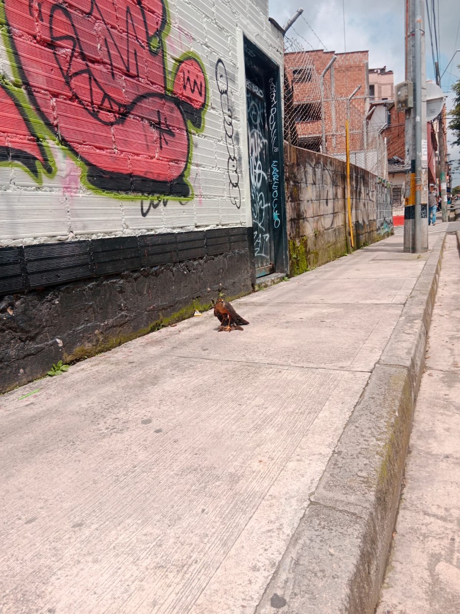
<svg viewBox="0 0 460 614"><path fill-rule="evenodd" d="M448 235L377 614L460 612L460 258Z"/></svg>

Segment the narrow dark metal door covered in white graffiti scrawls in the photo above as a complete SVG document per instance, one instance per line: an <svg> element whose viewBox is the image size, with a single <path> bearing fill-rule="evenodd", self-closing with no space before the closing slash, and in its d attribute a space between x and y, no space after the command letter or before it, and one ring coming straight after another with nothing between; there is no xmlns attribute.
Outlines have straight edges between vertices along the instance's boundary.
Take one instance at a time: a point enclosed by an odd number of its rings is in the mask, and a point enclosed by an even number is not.
<svg viewBox="0 0 460 614"><path fill-rule="evenodd" d="M273 216L266 93L263 82L247 72L246 97L256 277L274 271ZM259 84L257 83L259 81Z"/></svg>

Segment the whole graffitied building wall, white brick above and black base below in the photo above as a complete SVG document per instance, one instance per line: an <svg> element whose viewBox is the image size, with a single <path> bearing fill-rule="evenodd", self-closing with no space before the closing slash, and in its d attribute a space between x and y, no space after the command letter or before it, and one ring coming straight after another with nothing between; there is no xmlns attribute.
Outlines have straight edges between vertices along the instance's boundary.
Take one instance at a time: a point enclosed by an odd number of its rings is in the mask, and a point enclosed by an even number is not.
<svg viewBox="0 0 460 614"><path fill-rule="evenodd" d="M0 0L0 392L254 282L265 0Z"/></svg>

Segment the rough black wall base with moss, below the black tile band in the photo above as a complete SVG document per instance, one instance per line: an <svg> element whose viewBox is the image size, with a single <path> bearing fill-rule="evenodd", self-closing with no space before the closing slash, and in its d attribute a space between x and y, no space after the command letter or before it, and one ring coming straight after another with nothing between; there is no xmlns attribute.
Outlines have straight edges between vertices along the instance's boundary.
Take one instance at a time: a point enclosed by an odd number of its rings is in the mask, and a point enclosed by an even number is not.
<svg viewBox="0 0 460 614"><path fill-rule="evenodd" d="M0 297L0 392L251 292L247 244L217 255ZM153 338L153 341L155 339Z"/></svg>

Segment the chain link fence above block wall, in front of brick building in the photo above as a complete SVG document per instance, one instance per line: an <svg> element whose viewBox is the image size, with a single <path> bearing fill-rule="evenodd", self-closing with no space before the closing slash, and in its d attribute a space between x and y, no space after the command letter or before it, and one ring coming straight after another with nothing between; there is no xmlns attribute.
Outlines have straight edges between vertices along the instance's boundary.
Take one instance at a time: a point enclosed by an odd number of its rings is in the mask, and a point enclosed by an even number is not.
<svg viewBox="0 0 460 614"><path fill-rule="evenodd" d="M385 138L369 121L366 104L366 92L351 101L336 95L330 76L321 77L302 45L285 38L286 141L345 161L348 119L350 163L387 179Z"/></svg>

